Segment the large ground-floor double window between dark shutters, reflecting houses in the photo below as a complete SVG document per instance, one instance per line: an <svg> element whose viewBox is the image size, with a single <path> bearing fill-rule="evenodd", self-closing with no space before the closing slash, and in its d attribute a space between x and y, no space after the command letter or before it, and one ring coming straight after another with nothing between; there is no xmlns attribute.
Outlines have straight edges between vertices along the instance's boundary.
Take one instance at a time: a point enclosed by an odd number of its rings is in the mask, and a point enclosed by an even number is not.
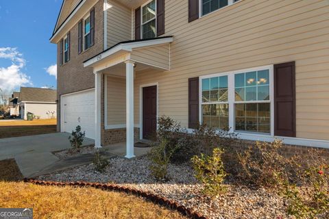
<svg viewBox="0 0 329 219"><path fill-rule="evenodd" d="M201 78L202 123L236 132L271 133L271 67Z"/></svg>

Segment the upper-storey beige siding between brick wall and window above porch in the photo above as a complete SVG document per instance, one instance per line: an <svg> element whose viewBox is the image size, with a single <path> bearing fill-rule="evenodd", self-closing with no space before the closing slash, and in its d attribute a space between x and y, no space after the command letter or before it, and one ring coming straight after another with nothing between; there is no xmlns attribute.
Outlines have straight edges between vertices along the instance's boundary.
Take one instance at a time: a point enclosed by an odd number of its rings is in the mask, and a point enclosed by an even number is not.
<svg viewBox="0 0 329 219"><path fill-rule="evenodd" d="M118 42L132 38L132 12L129 8L108 0L107 10L107 45L108 48Z"/></svg>

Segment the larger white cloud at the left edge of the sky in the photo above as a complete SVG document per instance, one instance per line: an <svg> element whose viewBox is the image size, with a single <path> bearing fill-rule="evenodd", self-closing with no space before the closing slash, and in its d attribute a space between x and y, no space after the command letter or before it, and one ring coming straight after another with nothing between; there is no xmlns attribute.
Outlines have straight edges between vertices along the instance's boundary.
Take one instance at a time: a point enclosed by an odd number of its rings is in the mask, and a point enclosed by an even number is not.
<svg viewBox="0 0 329 219"><path fill-rule="evenodd" d="M1 89L11 91L20 86L32 85L30 78L22 73L26 61L16 48L0 47L0 59L12 61L8 67L0 66Z"/></svg>

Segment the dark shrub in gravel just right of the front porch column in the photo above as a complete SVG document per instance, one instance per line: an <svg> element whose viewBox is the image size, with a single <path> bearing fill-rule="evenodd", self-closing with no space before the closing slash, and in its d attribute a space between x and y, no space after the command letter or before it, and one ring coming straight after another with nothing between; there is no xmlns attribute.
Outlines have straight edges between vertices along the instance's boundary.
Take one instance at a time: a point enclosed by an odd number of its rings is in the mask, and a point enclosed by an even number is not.
<svg viewBox="0 0 329 219"><path fill-rule="evenodd" d="M148 156L151 160L149 169L151 174L158 180L167 179L168 165L173 153L178 149L169 147L166 139L163 139L158 146L153 146Z"/></svg>

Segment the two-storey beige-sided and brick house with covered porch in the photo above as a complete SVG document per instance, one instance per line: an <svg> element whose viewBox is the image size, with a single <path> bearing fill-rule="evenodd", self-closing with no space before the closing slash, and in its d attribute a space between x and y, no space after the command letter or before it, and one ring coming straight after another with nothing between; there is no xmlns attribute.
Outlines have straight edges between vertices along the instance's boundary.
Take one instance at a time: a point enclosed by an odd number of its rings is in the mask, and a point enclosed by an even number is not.
<svg viewBox="0 0 329 219"><path fill-rule="evenodd" d="M328 0L65 0L58 131L134 157L167 115L329 148L328 17Z"/></svg>

